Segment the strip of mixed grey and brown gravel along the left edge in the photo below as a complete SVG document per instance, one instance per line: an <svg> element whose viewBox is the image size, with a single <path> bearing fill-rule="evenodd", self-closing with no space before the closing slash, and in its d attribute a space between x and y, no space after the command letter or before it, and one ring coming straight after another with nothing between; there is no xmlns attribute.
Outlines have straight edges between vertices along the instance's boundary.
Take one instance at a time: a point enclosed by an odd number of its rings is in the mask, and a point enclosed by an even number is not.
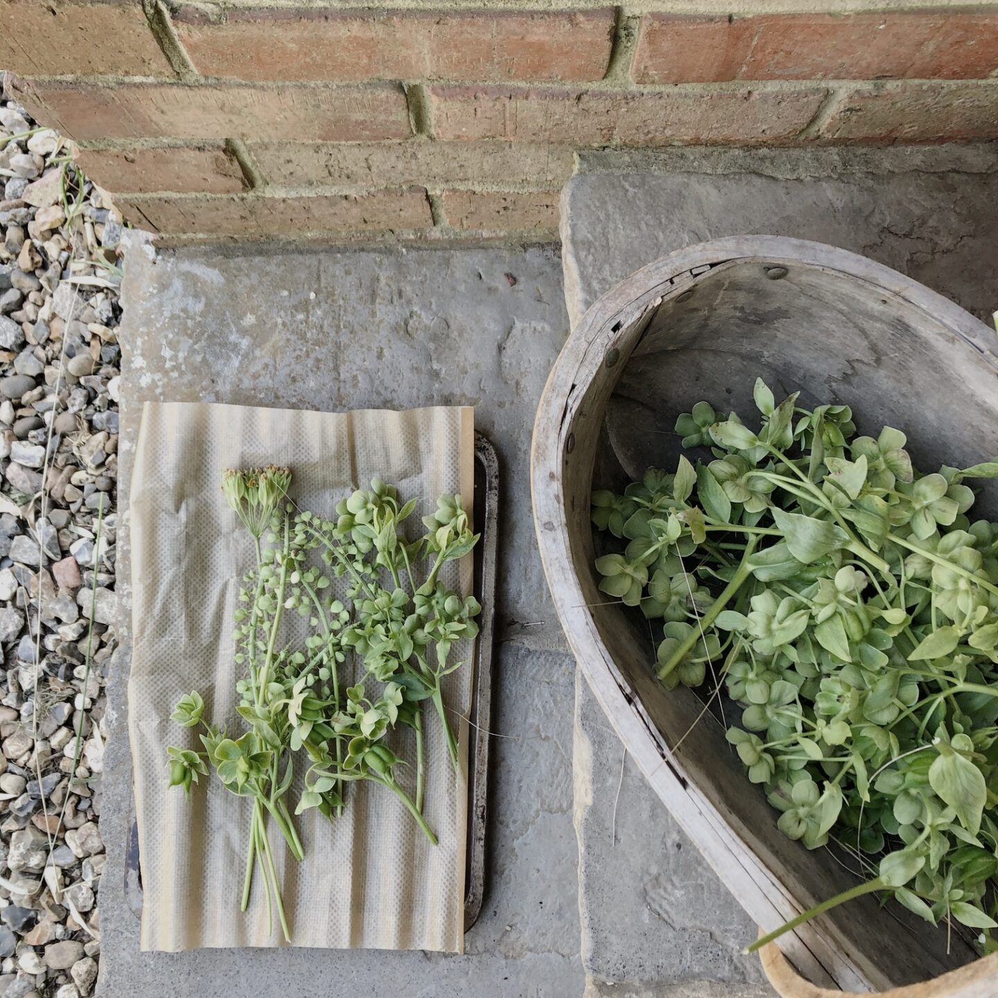
<svg viewBox="0 0 998 998"><path fill-rule="evenodd" d="M70 152L0 92L6 998L91 994L101 949L96 898L106 857L98 818L104 674L116 646L122 225Z"/></svg>

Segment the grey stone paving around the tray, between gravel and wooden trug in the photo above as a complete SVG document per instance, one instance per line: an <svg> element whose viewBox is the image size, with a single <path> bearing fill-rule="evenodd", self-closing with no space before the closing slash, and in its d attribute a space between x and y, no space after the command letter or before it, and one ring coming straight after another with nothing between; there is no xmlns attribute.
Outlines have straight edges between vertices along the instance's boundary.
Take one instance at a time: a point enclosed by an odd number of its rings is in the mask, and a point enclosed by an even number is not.
<svg viewBox="0 0 998 998"><path fill-rule="evenodd" d="M135 885L126 884L132 817L124 504L122 649L108 681L99 994L577 998L584 973L572 824L575 664L561 650L534 552L527 469L537 397L568 325L557 253L221 255L137 247L127 257L123 301L123 499L146 399L330 409L475 404L502 462L498 612L505 640L493 667L488 880L463 956L295 948L142 953L129 904ZM219 917L240 917L235 901Z"/></svg>

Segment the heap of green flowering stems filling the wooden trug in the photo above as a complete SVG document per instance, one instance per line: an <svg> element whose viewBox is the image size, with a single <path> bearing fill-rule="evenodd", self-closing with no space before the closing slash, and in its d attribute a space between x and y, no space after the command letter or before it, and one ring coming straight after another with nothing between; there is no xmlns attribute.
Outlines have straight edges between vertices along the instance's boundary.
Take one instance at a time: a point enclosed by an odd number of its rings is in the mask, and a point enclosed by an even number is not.
<svg viewBox="0 0 998 998"><path fill-rule="evenodd" d="M998 524L964 483L998 462L921 474L900 430L858 435L848 406L797 394L757 380L757 430L699 402L676 431L703 460L595 492L593 523L626 542L600 588L657 627L667 689L737 703L728 740L780 830L863 877L751 948L883 891L990 951Z"/></svg>

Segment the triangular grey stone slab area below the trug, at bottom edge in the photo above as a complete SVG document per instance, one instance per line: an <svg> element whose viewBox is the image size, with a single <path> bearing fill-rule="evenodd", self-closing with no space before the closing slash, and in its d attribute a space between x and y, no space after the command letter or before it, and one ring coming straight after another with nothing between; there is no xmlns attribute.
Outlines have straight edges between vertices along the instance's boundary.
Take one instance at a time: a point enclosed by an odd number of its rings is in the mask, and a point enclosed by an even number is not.
<svg viewBox="0 0 998 998"><path fill-rule="evenodd" d="M626 755L581 673L574 751L582 960L593 993L771 994L758 959L742 955L756 935L749 918Z"/></svg>

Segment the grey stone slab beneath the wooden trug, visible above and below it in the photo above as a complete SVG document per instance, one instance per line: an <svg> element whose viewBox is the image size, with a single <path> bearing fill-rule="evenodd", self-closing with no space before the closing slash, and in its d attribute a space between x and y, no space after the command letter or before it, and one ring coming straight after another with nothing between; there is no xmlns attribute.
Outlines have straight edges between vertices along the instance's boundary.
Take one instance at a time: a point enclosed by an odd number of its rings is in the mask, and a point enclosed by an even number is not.
<svg viewBox="0 0 998 998"><path fill-rule="evenodd" d="M861 252L988 317L998 305L998 147L582 154L562 197L569 314L577 321L618 280L673 250L749 234ZM622 752L580 682L587 995L771 994L757 983L757 960L739 954L753 937L748 919L632 766L612 839Z"/></svg>

